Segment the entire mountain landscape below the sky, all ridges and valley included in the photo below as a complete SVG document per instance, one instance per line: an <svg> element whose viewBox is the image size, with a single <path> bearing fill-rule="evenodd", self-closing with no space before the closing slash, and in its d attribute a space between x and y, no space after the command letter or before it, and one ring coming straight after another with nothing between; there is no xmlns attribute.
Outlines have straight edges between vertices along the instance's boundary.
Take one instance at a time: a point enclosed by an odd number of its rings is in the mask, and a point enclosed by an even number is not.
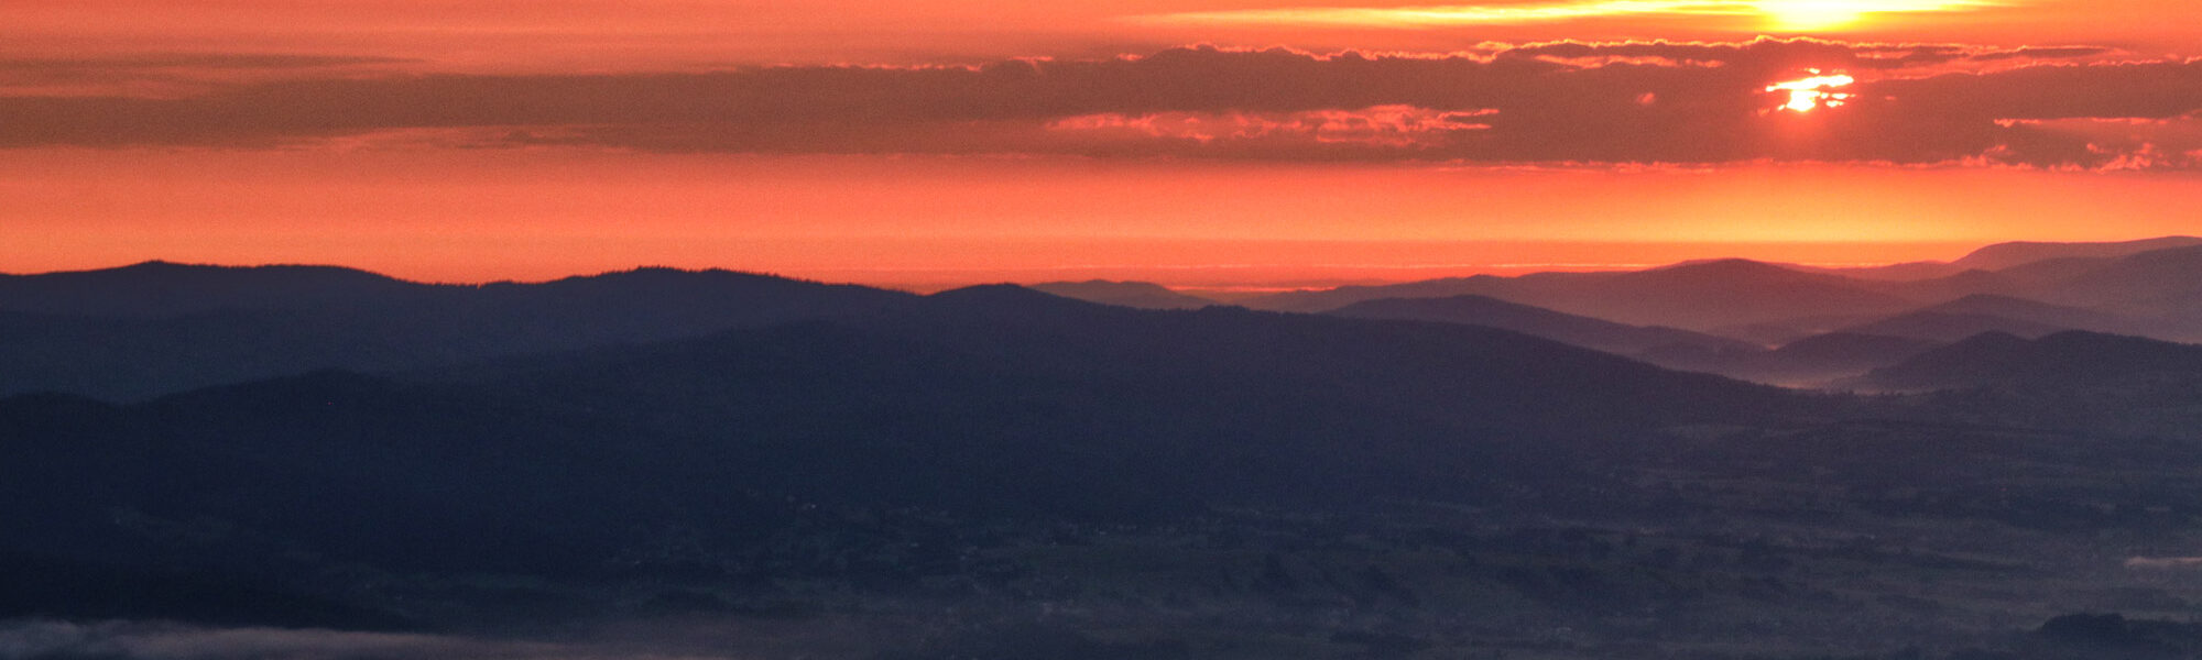
<svg viewBox="0 0 2202 660"><path fill-rule="evenodd" d="M0 623L335 658L2178 658L2202 253L2171 242L1253 301L1319 312L9 275ZM0 656L161 658L11 625Z"/></svg>

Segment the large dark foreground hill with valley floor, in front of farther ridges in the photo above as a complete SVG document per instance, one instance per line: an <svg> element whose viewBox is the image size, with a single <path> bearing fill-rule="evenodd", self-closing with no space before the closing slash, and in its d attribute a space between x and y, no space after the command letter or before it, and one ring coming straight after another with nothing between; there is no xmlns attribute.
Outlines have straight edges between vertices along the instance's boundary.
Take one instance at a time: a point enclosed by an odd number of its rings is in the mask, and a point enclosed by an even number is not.
<svg viewBox="0 0 2202 660"><path fill-rule="evenodd" d="M1817 658L1867 634L2008 649L2026 642L2010 625L2068 607L2189 607L2103 568L2149 552L2134 539L2178 552L2202 510L2184 436L2121 436L2202 429L2178 414L2191 392L2059 376L2081 387L1852 398L1460 323L1017 286L896 301L130 405L0 398L0 618L614 638L438 658L780 658L841 638L861 638L832 647L850 658L1696 658L1735 640ZM2173 363L2154 350L2112 367ZM2090 579L2107 583L2072 587ZM1462 612L1500 618L1462 634ZM1555 645L1561 625L1585 642ZM68 631L31 634L48 629ZM641 640L674 629L698 634Z"/></svg>

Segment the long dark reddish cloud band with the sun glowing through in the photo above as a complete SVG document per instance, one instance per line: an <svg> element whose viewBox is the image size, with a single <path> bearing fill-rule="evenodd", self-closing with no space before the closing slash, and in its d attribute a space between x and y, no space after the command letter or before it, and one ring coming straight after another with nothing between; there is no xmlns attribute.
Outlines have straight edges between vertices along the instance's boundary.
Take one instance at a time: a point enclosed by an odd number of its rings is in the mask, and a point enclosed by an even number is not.
<svg viewBox="0 0 2202 660"><path fill-rule="evenodd" d="M321 77L148 97L0 97L0 147L324 141L764 154L2184 167L2173 139L2079 123L2189 121L2202 64L2096 46L1825 40L1486 44L1447 55L1169 48L986 66L656 75ZM1810 70L1843 108L1777 112ZM2143 154L2145 145L2154 145Z"/></svg>

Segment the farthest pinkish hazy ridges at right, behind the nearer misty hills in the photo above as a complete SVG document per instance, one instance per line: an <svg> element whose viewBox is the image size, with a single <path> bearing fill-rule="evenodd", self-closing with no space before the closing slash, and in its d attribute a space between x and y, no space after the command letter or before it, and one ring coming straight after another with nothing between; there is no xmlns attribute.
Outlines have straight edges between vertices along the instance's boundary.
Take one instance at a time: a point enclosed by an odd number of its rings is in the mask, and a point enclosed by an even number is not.
<svg viewBox="0 0 2202 660"><path fill-rule="evenodd" d="M1387 297L1484 295L1557 312L1634 326L1764 339L1764 328L1786 326L1786 343L1817 332L1845 330L1903 312L1951 306L1969 297L1973 315L2017 315L2043 323L2041 306L2065 317L2046 323L2074 330L2125 330L2165 339L2193 339L2195 279L2202 240L2160 238L2121 244L1995 244L1949 264L1951 271L1907 268L1916 277L1845 277L1845 271L1764 264L1746 260L1689 262L1629 273L1535 273L1522 277L1451 277L1389 286L1341 286L1279 293L1244 301L1249 308L1321 312ZM2090 319L2070 312L2094 315ZM1762 328L1757 337L1753 326Z"/></svg>

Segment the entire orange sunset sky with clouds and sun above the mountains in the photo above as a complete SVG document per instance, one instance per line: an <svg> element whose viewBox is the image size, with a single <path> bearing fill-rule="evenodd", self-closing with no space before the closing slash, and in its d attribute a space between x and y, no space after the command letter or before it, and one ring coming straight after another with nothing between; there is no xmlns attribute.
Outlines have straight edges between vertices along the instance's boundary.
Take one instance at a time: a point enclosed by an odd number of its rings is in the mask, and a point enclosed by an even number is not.
<svg viewBox="0 0 2202 660"><path fill-rule="evenodd" d="M2202 233L2184 0L0 4L0 273L1290 288Z"/></svg>

